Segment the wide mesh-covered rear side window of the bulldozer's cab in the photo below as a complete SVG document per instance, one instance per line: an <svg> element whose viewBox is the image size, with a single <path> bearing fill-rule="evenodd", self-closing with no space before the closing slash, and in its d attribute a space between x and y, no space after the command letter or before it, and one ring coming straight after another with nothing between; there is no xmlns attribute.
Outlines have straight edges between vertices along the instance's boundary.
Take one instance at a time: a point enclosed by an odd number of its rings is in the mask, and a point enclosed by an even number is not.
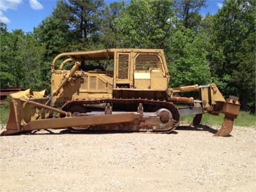
<svg viewBox="0 0 256 192"><path fill-rule="evenodd" d="M158 68L163 71L162 63L156 54L139 54L135 59L135 70Z"/></svg>

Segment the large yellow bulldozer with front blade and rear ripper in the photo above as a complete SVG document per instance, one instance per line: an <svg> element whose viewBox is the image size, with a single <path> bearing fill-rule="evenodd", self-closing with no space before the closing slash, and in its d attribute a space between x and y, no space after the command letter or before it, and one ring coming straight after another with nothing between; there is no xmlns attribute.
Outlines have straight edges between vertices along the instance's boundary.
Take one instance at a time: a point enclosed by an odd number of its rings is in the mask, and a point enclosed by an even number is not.
<svg viewBox="0 0 256 192"><path fill-rule="evenodd" d="M203 114L222 113L224 122L214 135L226 136L240 108L238 98L225 100L214 83L168 88L170 74L159 49L61 53L51 73L49 96L30 89L10 95L1 135L49 129L171 132L180 116L195 115L198 125ZM179 97L192 91L198 99Z"/></svg>

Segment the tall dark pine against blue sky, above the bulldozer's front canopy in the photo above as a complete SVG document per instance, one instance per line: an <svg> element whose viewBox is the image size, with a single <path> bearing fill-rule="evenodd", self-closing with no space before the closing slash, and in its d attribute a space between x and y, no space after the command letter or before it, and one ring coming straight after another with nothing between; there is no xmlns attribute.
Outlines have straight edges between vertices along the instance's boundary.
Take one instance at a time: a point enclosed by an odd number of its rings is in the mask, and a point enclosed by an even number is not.
<svg viewBox="0 0 256 192"><path fill-rule="evenodd" d="M70 51L91 50L101 46L103 5L103 0L65 2L71 33Z"/></svg>

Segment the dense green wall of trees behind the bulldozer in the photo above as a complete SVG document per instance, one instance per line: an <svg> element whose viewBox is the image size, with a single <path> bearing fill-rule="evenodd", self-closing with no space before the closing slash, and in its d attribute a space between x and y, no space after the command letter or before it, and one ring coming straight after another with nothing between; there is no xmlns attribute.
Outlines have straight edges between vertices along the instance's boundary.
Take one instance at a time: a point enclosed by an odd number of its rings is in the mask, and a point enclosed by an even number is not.
<svg viewBox="0 0 256 192"><path fill-rule="evenodd" d="M48 89L52 59L61 52L115 47L164 49L170 86L215 82L255 113L255 1L225 1L215 15L206 0L60 0L25 34L0 23L1 87Z"/></svg>

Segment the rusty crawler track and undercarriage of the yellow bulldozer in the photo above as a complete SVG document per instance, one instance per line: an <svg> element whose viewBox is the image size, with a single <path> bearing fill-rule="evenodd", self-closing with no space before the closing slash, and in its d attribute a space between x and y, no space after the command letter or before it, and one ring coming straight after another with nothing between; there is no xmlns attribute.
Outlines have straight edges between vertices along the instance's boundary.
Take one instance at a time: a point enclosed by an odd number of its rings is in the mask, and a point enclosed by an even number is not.
<svg viewBox="0 0 256 192"><path fill-rule="evenodd" d="M105 110L95 108L100 104L106 104ZM123 107L126 110L120 111L121 106L126 106L126 108ZM115 115L126 114L129 110L137 111L137 113L133 113L134 121L132 123L79 126L72 127L73 130L170 132L177 127L180 117L178 108L173 103L147 99L76 100L65 103L62 109L70 111L74 116ZM117 110L115 111L115 109Z"/></svg>

